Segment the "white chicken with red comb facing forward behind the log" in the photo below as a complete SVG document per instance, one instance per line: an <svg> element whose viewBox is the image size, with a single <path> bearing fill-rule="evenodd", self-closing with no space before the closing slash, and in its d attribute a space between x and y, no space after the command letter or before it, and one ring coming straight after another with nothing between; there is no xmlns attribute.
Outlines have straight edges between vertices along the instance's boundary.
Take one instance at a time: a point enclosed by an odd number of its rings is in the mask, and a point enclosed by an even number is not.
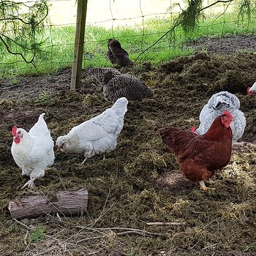
<svg viewBox="0 0 256 256"><path fill-rule="evenodd" d="M45 176L45 168L53 165L55 159L53 139L43 116L45 113L39 116L29 132L16 126L12 128L12 157L21 168L22 175L30 176L30 180L21 189L34 187L34 181Z"/></svg>

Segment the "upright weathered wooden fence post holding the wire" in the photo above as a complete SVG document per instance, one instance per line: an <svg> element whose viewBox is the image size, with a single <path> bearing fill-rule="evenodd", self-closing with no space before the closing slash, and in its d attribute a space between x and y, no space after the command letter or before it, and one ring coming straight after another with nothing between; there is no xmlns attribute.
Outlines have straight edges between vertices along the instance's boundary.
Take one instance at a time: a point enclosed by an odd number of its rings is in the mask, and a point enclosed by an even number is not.
<svg viewBox="0 0 256 256"><path fill-rule="evenodd" d="M83 64L83 42L86 30L87 0L78 0L78 13L75 31L74 59L72 64L71 89L80 88L80 77Z"/></svg>

